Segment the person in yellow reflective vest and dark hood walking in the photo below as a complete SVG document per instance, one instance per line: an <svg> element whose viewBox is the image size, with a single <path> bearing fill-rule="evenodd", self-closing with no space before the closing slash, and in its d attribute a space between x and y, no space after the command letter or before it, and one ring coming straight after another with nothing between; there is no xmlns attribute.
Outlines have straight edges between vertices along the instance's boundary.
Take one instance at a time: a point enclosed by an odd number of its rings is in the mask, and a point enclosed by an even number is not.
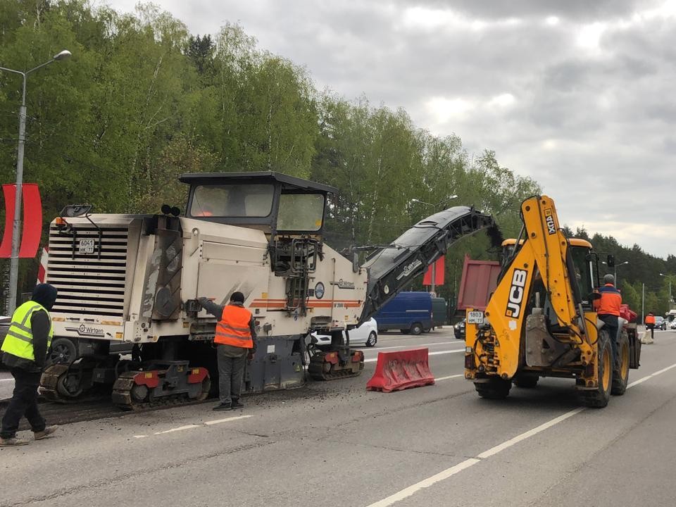
<svg viewBox="0 0 676 507"><path fill-rule="evenodd" d="M56 287L38 284L30 301L19 306L12 315L1 350L2 362L14 377L14 393L2 418L0 447L30 442L16 437L24 415L35 440L44 439L58 427L47 426L37 408L37 388L54 334L49 311L55 301Z"/></svg>

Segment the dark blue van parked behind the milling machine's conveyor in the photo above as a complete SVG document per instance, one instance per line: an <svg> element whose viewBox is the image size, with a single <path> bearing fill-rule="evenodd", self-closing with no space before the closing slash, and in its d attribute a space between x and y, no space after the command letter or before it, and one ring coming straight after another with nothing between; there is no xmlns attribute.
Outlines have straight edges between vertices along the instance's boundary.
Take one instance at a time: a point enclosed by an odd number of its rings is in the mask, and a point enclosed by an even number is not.
<svg viewBox="0 0 676 507"><path fill-rule="evenodd" d="M373 315L378 331L401 330L420 334L432 328L432 294L429 292L399 292L392 301Z"/></svg>

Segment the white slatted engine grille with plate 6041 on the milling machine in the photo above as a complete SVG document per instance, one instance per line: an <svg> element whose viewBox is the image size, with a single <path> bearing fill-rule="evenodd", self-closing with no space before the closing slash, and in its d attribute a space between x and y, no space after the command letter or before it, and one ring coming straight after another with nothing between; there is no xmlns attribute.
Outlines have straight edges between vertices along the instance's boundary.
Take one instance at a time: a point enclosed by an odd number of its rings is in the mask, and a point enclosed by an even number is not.
<svg viewBox="0 0 676 507"><path fill-rule="evenodd" d="M93 225L74 229L75 236L49 230L47 282L58 289L52 313L123 318L127 227L101 227L100 237Z"/></svg>

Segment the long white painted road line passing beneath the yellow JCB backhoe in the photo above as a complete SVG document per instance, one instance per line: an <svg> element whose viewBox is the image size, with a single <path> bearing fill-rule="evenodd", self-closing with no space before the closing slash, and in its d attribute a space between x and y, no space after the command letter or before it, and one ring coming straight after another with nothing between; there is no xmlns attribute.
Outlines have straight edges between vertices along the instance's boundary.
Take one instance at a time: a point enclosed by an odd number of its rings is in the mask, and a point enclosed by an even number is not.
<svg viewBox="0 0 676 507"><path fill-rule="evenodd" d="M641 382L645 382L649 378L656 377L657 375L661 375L662 373L665 373L672 368L676 368L676 364L672 364L671 366L668 366L667 368L663 368L661 370L656 371L655 373L651 373L650 375L647 375L646 377L640 378L639 380L635 380L631 384L627 385L627 389L630 387L634 387L637 384L640 384ZM440 380L440 379L437 379ZM504 451L505 449L508 449L509 447L518 444L519 442L522 442L525 439L528 439L540 432L543 432L544 430L549 429L550 427L557 425L558 423L561 423L562 421L572 418L573 415L577 415L582 411L587 410L585 407L580 407L580 408L575 408L575 410L572 410L570 412L566 412L563 415L559 415L556 418L553 418L552 420L547 421L546 423L543 423L537 427L534 427L532 430L528 430L527 432L523 432L522 434L518 434L516 437L513 437L506 442L503 442L502 444L498 444L491 449L488 449L487 451L484 451L480 454L478 454L475 458L469 458L466 459L465 461L462 461L461 463L458 463L457 465L453 465L451 468L446 468L446 470L442 470L442 472L439 472L436 475L432 475L432 477L428 477L427 479L423 479L420 482L416 482L415 484L407 487L406 489L402 489L400 492L397 492L393 495L388 496L386 499L382 499L380 501L377 501L375 503L371 503L368 507L388 507L393 505L394 503L406 499L409 496L413 496L415 493L419 492L421 489L424 489L426 487L433 486L434 484L437 484L437 482L441 482L442 480L448 479L449 477L456 475L459 472L462 472L466 468L470 468L472 465L476 465L477 463L480 463L482 459L489 458L490 456L495 456L497 453Z"/></svg>

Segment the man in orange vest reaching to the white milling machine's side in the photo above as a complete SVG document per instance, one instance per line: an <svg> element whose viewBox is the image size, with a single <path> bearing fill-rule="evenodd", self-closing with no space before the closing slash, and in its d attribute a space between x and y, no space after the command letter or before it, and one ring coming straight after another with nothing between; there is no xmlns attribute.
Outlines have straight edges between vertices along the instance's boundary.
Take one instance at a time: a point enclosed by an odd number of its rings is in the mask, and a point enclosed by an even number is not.
<svg viewBox="0 0 676 507"><path fill-rule="evenodd" d="M244 294L233 292L230 303L220 306L206 298L198 299L200 306L218 318L213 339L218 344L218 397L220 404L213 410L242 408L239 401L244 378L246 358L256 352L256 322L249 310L244 308Z"/></svg>

